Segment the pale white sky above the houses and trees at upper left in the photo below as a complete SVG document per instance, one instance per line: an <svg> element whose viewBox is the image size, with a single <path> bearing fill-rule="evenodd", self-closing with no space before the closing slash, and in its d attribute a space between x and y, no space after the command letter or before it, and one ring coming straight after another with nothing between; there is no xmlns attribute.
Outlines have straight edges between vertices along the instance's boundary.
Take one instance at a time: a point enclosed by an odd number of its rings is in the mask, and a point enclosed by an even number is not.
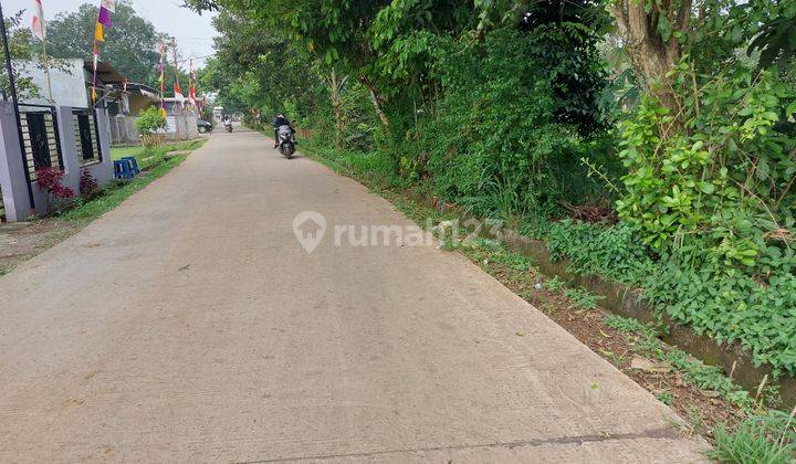
<svg viewBox="0 0 796 464"><path fill-rule="evenodd" d="M27 10L22 21L25 25L30 24L33 0L0 0L0 3L3 14L7 15ZM83 3L98 7L100 0L42 0L44 19L51 19L61 12L76 11ZM130 3L138 15L149 20L159 32L176 36L177 48L186 57L193 56L197 67L201 67L205 59L212 54L212 38L216 35L216 30L211 24L210 14L199 15L181 8L181 0L133 0Z"/></svg>

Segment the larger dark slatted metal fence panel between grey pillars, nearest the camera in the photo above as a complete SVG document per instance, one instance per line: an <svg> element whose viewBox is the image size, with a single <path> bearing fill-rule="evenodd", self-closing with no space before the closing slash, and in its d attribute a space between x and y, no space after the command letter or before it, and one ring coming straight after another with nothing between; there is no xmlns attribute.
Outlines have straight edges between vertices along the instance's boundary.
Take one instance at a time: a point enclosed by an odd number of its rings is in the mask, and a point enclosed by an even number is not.
<svg viewBox="0 0 796 464"><path fill-rule="evenodd" d="M55 167L63 169L55 108L20 105L20 124L30 180L38 179L35 172L38 169Z"/></svg>

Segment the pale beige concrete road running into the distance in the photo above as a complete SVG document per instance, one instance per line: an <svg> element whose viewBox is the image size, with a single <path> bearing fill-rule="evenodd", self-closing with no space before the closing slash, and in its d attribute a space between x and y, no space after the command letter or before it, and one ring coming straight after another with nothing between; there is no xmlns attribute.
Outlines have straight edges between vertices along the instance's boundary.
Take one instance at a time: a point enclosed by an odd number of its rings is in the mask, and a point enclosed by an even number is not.
<svg viewBox="0 0 796 464"><path fill-rule="evenodd" d="M269 143L214 134L0 278L0 462L702 458L667 407L459 254L334 246L335 225L411 223ZM305 210L327 222L313 253Z"/></svg>

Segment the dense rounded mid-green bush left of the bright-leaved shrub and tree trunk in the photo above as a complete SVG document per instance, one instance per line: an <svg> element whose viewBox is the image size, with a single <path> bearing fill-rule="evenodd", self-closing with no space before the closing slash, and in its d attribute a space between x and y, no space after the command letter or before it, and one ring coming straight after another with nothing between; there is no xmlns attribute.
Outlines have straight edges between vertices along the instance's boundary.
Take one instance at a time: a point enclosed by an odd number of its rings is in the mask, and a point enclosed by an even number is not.
<svg viewBox="0 0 796 464"><path fill-rule="evenodd" d="M479 45L441 46L442 97L422 140L440 197L507 218L559 199L582 202L601 188L579 161L599 155L591 151L599 144L562 122L556 76L536 57L534 34L500 31Z"/></svg>

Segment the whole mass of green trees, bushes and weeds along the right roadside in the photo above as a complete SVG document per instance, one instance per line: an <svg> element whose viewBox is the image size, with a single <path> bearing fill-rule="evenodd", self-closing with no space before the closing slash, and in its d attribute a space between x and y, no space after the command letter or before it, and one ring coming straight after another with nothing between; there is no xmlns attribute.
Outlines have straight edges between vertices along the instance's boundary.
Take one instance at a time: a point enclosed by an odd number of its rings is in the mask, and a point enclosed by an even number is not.
<svg viewBox="0 0 796 464"><path fill-rule="evenodd" d="M741 345L769 382L796 376L796 2L188 3L220 10L200 80L248 124L285 112L339 171L501 219L573 271ZM559 292L597 312L598 296ZM636 340L606 359L684 369L682 382L739 411L705 432L714 457L793 457L794 424L776 420L790 404L768 412L775 394L604 319Z"/></svg>

